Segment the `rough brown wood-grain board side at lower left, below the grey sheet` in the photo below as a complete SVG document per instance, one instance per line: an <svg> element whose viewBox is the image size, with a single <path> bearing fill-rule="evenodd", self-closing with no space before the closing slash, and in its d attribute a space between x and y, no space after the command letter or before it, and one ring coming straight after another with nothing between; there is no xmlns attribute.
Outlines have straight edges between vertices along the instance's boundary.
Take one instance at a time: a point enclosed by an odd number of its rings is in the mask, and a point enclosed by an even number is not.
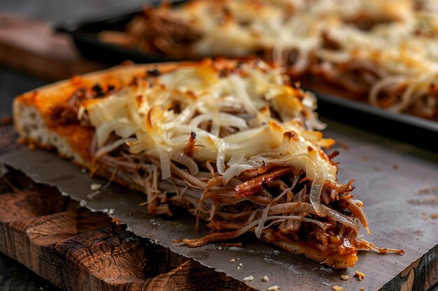
<svg viewBox="0 0 438 291"><path fill-rule="evenodd" d="M250 290L19 172L0 185L0 252L64 290Z"/></svg>

